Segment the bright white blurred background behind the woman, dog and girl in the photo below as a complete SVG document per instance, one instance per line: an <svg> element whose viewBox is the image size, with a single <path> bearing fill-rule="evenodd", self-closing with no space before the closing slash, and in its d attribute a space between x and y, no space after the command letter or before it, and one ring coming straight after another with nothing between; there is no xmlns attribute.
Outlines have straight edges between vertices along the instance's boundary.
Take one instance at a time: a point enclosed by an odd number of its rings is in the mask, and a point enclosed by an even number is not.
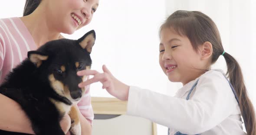
<svg viewBox="0 0 256 135"><path fill-rule="evenodd" d="M25 0L2 0L0 18L22 16L24 5ZM176 10L197 10L213 19L224 50L240 63L249 97L256 106L256 0L100 0L88 26L63 35L78 39L94 29L92 69L102 72L106 64L128 85L173 96L182 85L168 81L158 64L158 30ZM215 68L226 71L223 57L213 65ZM99 83L91 85L91 95L112 97ZM157 129L158 135L167 134L166 127L157 125Z"/></svg>

